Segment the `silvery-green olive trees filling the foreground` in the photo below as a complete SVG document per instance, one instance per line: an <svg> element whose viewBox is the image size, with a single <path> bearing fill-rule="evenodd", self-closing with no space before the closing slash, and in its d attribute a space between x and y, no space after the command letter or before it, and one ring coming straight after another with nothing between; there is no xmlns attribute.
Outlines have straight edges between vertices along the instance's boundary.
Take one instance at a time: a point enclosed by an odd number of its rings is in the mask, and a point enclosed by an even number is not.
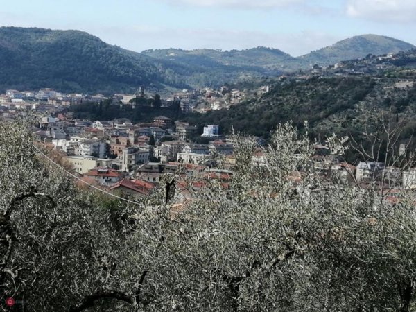
<svg viewBox="0 0 416 312"><path fill-rule="evenodd" d="M226 190L188 180L175 215L163 183L137 203L80 191L25 125L0 124L0 309L413 311L413 193L392 202L314 175L309 137L289 124L261 164L257 148L241 141Z"/></svg>

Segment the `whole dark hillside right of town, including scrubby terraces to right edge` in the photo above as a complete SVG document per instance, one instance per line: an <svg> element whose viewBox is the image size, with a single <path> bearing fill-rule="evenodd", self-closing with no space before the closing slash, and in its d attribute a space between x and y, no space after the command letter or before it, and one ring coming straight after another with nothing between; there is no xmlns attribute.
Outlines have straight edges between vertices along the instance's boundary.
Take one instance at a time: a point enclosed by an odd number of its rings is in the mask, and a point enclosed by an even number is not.
<svg viewBox="0 0 416 312"><path fill-rule="evenodd" d="M310 132L326 137L335 132L359 137L365 127L390 112L404 116L408 123L404 136L415 128L415 77L400 79L371 77L311 78L276 83L268 94L252 101L206 114L192 114L196 124L219 124L227 133L239 132L267 136L278 123L293 121L302 128L309 122Z"/></svg>

